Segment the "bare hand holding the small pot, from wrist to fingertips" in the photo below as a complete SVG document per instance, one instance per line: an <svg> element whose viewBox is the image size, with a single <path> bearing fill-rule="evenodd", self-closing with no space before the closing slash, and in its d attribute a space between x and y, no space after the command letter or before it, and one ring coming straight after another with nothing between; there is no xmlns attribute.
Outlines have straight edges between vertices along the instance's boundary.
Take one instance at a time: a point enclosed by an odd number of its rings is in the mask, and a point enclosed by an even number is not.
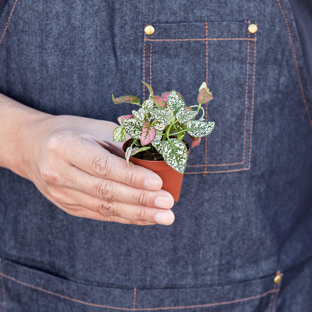
<svg viewBox="0 0 312 312"><path fill-rule="evenodd" d="M173 197L161 178L123 158L112 140L117 124L44 115L27 129L24 176L65 212L102 221L164 224L174 221ZM117 156L119 155L119 156ZM122 157L122 158L121 158Z"/></svg>

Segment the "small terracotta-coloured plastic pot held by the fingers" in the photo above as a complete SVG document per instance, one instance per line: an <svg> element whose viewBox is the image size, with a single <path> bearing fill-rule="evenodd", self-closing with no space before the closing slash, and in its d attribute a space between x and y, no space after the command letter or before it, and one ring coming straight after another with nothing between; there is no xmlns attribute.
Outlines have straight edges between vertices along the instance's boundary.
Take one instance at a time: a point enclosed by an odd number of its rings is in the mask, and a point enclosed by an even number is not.
<svg viewBox="0 0 312 312"><path fill-rule="evenodd" d="M122 146L124 155L126 154L126 149L129 145L129 142L131 141L132 139L127 140ZM186 144L189 153L190 146L188 142L186 142L185 140L183 140L183 142ZM169 192L173 196L175 202L179 200L183 174L175 171L173 168L167 165L164 160L144 160L130 156L129 161L131 161L131 163L134 163L135 165L142 166L157 173L159 177L163 180L162 189Z"/></svg>

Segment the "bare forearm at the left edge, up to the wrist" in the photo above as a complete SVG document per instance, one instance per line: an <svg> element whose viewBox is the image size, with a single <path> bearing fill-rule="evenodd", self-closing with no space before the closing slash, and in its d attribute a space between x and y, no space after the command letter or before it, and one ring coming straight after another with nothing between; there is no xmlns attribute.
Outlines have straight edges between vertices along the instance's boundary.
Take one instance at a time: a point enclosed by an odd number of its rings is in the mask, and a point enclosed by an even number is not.
<svg viewBox="0 0 312 312"><path fill-rule="evenodd" d="M0 94L0 166L28 178L27 147L32 126L49 114L42 113Z"/></svg>

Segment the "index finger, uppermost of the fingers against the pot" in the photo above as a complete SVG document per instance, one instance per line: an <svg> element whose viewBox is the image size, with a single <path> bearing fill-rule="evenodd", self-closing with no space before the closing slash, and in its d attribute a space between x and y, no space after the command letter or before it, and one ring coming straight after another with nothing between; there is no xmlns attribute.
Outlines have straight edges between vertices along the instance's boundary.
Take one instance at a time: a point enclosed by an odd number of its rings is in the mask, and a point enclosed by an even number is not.
<svg viewBox="0 0 312 312"><path fill-rule="evenodd" d="M125 159L122 159L108 150L85 139L79 144L71 144L68 149L69 162L100 178L119 181L135 188L158 191L163 181L153 171L130 163L129 168Z"/></svg>

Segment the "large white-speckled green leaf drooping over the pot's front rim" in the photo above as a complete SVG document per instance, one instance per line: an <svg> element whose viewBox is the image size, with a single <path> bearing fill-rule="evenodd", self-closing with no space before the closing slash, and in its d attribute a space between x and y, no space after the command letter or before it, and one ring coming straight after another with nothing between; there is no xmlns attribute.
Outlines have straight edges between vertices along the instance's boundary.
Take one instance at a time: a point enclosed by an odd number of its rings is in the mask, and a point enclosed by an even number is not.
<svg viewBox="0 0 312 312"><path fill-rule="evenodd" d="M188 149L179 139L169 141L153 141L152 145L162 154L164 161L174 170L183 174L188 160Z"/></svg>

